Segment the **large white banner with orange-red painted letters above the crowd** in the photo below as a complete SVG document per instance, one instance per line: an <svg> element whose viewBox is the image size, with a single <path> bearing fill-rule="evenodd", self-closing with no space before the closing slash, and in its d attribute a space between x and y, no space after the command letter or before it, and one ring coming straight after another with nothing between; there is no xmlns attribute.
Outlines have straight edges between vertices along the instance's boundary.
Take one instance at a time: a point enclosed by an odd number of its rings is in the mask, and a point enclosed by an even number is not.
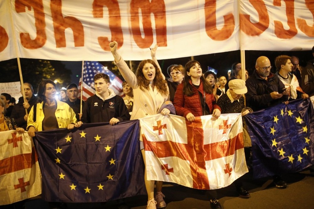
<svg viewBox="0 0 314 209"><path fill-rule="evenodd" d="M149 47L156 43L158 59L240 48L311 49L313 1L254 2L2 0L0 61L15 57L108 61L113 60L111 40L118 42L124 60L149 58Z"/></svg>

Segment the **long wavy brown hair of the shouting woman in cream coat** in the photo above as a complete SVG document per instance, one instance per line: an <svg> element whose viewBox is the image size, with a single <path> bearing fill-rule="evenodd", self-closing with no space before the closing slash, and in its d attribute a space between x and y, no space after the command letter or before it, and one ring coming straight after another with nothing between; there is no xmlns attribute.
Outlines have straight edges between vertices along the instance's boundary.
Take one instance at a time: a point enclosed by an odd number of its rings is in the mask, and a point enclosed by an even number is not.
<svg viewBox="0 0 314 209"><path fill-rule="evenodd" d="M163 79L156 63L153 60L143 60L139 63L138 68L136 70L136 77L138 79L138 86L142 91L145 91L149 89L149 80L147 80L143 74L143 67L146 63L150 63L155 67L155 77L153 80L154 86L158 89L158 91L163 96L167 96L169 94L169 91L167 89L167 82Z"/></svg>

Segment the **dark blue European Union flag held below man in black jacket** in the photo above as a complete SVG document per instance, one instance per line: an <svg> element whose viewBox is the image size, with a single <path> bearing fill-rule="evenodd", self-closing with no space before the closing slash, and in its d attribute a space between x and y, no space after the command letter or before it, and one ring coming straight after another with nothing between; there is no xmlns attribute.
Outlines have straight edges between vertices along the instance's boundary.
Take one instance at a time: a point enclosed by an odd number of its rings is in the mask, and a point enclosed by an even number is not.
<svg viewBox="0 0 314 209"><path fill-rule="evenodd" d="M138 136L138 120L37 132L43 199L105 202L145 194Z"/></svg>

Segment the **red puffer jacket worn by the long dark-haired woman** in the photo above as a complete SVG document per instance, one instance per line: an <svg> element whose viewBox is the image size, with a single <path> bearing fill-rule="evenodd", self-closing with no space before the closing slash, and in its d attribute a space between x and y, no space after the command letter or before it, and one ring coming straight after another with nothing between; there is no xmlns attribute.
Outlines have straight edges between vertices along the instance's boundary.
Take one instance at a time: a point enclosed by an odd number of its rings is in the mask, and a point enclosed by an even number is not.
<svg viewBox="0 0 314 209"><path fill-rule="evenodd" d="M203 83L200 82L198 89L193 86L190 81L190 85L192 85L194 94L189 97L187 95L183 95L183 83L179 84L176 90L175 98L173 100L173 105L176 107L176 114L179 116L186 117L186 115L191 112L195 117L202 116L202 105L201 99L197 91L200 91L202 95L203 91ZM216 100L213 94L208 94L205 92L206 104L209 108L210 113L213 113L213 109L220 109L220 107L216 104ZM214 108L213 108L214 107Z"/></svg>

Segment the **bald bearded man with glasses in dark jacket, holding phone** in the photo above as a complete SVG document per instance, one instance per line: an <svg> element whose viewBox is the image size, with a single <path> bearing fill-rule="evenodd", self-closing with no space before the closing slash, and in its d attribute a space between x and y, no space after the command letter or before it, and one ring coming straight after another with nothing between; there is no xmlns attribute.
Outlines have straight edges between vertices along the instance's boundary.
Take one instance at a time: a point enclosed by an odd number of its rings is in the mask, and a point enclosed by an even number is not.
<svg viewBox="0 0 314 209"><path fill-rule="evenodd" d="M285 88L271 69L267 57L258 57L253 75L246 80L246 103L254 111L288 101L290 88Z"/></svg>

